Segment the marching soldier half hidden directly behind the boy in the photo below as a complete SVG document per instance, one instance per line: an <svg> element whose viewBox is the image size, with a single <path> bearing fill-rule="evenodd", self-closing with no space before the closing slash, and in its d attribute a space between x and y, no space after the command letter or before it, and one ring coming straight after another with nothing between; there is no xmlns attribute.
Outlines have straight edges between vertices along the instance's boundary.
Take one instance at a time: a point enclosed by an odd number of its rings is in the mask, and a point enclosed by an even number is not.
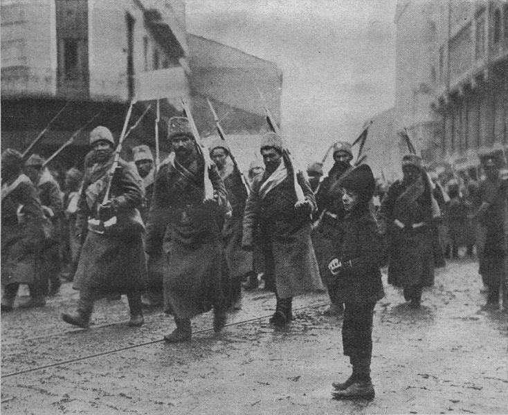
<svg viewBox="0 0 508 415"><path fill-rule="evenodd" d="M325 315L341 315L344 310L341 293L337 290L336 279L330 277L328 272L328 261L333 255L333 241L340 237L345 210L342 203L341 187L338 184L341 178L352 169L351 160L353 153L348 142L336 142L333 147L334 165L321 182L316 193L319 217L315 230L316 256L318 257L321 278L327 286L330 297L330 306Z"/></svg>

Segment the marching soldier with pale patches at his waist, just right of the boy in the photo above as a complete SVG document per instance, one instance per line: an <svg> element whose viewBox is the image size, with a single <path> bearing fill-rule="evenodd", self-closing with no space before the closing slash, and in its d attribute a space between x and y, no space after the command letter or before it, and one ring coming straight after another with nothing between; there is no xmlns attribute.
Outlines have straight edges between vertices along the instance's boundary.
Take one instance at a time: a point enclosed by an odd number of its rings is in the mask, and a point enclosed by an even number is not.
<svg viewBox="0 0 508 415"><path fill-rule="evenodd" d="M381 203L379 226L390 245L388 283L419 308L422 288L434 284L432 190L416 154L403 156L402 173Z"/></svg>

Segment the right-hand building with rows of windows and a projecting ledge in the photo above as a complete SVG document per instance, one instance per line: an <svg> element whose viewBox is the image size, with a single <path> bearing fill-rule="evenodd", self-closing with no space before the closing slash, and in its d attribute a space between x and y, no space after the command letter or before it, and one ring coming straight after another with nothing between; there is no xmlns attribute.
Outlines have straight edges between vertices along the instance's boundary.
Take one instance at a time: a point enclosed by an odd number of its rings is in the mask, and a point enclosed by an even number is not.
<svg viewBox="0 0 508 415"><path fill-rule="evenodd" d="M508 148L508 3L436 2L434 12L440 157L475 176L478 154Z"/></svg>

